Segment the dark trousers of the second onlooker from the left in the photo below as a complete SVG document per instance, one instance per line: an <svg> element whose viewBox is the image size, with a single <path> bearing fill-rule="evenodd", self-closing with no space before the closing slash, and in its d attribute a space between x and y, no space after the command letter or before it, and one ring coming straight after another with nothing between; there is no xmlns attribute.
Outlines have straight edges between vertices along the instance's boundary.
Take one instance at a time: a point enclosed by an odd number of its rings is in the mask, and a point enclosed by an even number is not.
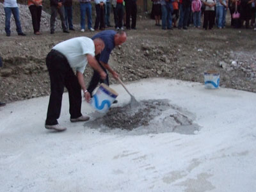
<svg viewBox="0 0 256 192"><path fill-rule="evenodd" d="M33 25L34 33L36 33L40 31L42 6L35 6L35 4L32 4L31 6L29 6L29 11L32 17L32 25Z"/></svg>

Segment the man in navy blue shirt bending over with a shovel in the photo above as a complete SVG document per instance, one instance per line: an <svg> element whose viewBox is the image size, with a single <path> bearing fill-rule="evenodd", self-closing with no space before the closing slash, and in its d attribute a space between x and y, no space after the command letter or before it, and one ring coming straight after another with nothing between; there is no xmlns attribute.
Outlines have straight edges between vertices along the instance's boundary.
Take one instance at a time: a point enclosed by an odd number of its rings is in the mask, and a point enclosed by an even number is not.
<svg viewBox="0 0 256 192"><path fill-rule="evenodd" d="M105 44L105 48L103 49L100 54L95 56L96 60L99 62L100 67L106 72L107 77L103 81L100 79L99 73L94 70L92 79L90 81L90 84L87 88L88 92L86 92L86 100L90 100L92 97L92 92L93 90L97 87L98 83L105 83L109 85L109 78L108 78L108 73L111 72L113 77L115 79L118 78L118 73L116 73L109 65L108 65L108 60L111 51L115 48L115 46L122 45L126 41L127 35L124 31L113 31L113 30L106 30L106 31L101 31L100 33L97 33L95 36L92 37L92 39L95 38L101 38Z"/></svg>

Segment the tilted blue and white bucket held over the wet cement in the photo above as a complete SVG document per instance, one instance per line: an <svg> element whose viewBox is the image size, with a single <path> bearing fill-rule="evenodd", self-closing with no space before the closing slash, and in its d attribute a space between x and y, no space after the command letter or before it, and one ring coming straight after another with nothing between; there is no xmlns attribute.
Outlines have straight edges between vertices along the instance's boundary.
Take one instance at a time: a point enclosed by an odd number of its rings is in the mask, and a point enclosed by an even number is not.
<svg viewBox="0 0 256 192"><path fill-rule="evenodd" d="M90 104L100 113L106 113L117 96L118 93L115 90L101 83L97 92L93 95Z"/></svg>

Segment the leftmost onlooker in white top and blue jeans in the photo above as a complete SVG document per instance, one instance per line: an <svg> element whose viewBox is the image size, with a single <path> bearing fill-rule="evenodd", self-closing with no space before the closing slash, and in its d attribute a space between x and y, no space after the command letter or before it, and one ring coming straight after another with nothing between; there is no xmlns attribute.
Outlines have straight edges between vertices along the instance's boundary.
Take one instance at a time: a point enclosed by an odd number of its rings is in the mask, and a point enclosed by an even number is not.
<svg viewBox="0 0 256 192"><path fill-rule="evenodd" d="M16 31L17 31L18 35L26 36L26 34L22 32L22 29L20 26L20 15L19 15L19 8L18 8L17 0L5 0L4 1L4 13L5 13L6 36L11 36L10 20L11 20L12 14L15 19Z"/></svg>

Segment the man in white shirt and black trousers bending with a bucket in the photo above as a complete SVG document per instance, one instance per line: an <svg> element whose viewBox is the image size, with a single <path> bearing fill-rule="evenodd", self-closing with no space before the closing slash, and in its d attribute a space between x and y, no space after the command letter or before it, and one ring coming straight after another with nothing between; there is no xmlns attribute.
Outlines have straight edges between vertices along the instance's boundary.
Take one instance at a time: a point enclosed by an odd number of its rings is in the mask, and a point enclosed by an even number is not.
<svg viewBox="0 0 256 192"><path fill-rule="evenodd" d="M84 93L87 92L83 72L89 63L90 67L99 72L102 79L106 79L106 73L95 59L95 55L99 54L104 47L104 42L100 38L92 40L81 36L55 45L47 54L46 65L51 80L51 95L45 120L46 129L56 131L67 129L57 121L60 117L64 86L68 90L70 122L89 120L89 116L84 116L81 113L81 89ZM76 75L73 70L76 71ZM84 97L86 97L85 95Z"/></svg>

